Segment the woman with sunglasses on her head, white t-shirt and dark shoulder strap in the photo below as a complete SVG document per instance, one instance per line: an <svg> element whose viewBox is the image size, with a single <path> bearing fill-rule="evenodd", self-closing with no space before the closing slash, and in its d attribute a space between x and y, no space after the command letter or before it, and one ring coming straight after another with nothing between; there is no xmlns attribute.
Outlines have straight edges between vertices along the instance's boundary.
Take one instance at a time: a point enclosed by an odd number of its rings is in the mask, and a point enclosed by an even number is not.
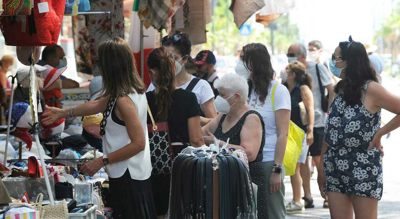
<svg viewBox="0 0 400 219"><path fill-rule="evenodd" d="M202 126L206 125L208 121L217 115L214 107L214 92L206 80L197 79L186 72L186 67L194 67L193 59L190 56L192 42L189 39L189 35L177 30L174 35L164 36L161 41L162 46L165 46L174 54L175 63L178 67L175 70L176 87L190 90L196 94L197 102L202 111L200 123ZM148 87L147 92L153 91L156 88L154 75L150 74L150 78L152 79L152 83ZM194 84L195 86L193 87Z"/></svg>

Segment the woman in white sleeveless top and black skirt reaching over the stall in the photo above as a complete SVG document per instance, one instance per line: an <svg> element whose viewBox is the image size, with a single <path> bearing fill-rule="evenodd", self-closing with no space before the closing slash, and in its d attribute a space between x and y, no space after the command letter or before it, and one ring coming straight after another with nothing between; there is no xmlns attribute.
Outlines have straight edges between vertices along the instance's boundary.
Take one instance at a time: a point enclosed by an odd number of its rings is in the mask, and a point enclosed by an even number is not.
<svg viewBox="0 0 400 219"><path fill-rule="evenodd" d="M80 168L93 176L105 166L114 202L114 218L155 219L150 175L150 147L147 132L146 88L137 74L128 44L113 37L98 45L98 66L103 76L100 100L69 109L46 108L42 121L104 112L100 125L102 157Z"/></svg>

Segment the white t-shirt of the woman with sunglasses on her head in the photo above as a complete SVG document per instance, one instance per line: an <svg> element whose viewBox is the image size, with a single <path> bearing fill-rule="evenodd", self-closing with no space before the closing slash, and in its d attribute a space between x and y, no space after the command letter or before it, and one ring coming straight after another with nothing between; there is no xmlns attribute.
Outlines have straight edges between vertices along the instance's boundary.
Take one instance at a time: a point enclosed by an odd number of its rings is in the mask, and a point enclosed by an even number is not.
<svg viewBox="0 0 400 219"><path fill-rule="evenodd" d="M196 77L191 76L190 81L188 81L186 84L184 84L182 86L179 86L178 88L182 88L182 89L186 90L186 88L188 87L190 82L193 80L193 78L196 78ZM155 87L152 84L150 84L150 86L147 89L147 92L153 91L154 89L155 89ZM201 79L196 84L196 86L194 86L192 92L194 94L196 94L197 102L200 105L204 104L205 102L207 102L211 98L214 98L214 92L212 91L212 88L211 88L210 84L208 84L208 82L206 80L203 80L203 79Z"/></svg>

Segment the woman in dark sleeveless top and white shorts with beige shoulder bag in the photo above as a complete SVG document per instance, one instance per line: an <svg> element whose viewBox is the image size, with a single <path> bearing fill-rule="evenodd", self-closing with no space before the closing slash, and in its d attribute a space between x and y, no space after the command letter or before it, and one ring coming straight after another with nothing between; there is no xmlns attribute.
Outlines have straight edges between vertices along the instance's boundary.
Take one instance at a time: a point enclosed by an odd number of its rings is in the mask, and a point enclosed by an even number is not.
<svg viewBox="0 0 400 219"><path fill-rule="evenodd" d="M288 66L286 66L286 72L288 77L283 85L286 86L290 92L290 100L292 103L290 120L307 133L304 136L302 150L297 160L296 171L294 175L290 176L293 188L293 200L286 205L286 211L288 214L294 214L305 211L304 204L300 202L303 183L300 175L300 165L306 163L308 145L312 145L314 141L314 97L311 91L311 76L306 73L306 66L304 66L302 62L290 62ZM300 103L302 103L302 106L307 112L307 124L305 125L300 115Z"/></svg>

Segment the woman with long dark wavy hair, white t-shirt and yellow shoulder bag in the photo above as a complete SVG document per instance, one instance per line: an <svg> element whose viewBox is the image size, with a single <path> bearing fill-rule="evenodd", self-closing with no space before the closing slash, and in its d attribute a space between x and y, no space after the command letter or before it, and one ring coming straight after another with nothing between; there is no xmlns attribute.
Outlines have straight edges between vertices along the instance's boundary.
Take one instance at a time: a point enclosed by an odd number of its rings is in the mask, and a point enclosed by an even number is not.
<svg viewBox="0 0 400 219"><path fill-rule="evenodd" d="M275 112L272 108L272 88L278 82L274 80L271 57L266 46L251 43L243 46L240 62L235 68L236 74L248 78L249 96L247 104L258 111L265 123L265 145L262 164L266 174L268 216L285 218L285 155L290 121L290 94L279 84L275 90Z"/></svg>

